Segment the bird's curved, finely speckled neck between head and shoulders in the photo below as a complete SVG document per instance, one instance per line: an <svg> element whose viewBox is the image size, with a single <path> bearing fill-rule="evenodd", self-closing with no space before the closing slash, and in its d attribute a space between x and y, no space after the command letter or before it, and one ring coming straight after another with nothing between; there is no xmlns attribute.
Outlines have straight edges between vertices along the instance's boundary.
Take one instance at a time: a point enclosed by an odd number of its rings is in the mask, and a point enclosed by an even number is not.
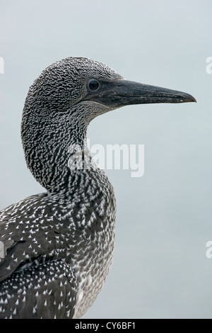
<svg viewBox="0 0 212 333"><path fill-rule="evenodd" d="M61 113L40 118L25 111L22 141L28 168L49 193L73 192L79 179L92 174L86 141L88 120Z"/></svg>

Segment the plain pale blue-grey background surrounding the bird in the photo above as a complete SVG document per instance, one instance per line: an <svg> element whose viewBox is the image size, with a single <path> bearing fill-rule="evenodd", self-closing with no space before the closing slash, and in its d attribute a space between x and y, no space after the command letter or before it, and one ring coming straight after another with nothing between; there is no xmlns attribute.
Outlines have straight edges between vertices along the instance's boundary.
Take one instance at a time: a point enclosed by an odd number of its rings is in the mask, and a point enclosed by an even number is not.
<svg viewBox="0 0 212 333"><path fill-rule="evenodd" d="M211 0L0 0L0 208L43 190L20 120L49 64L82 56L197 103L127 106L93 120L90 144L145 146L145 172L107 174L117 198L114 264L85 318L211 318Z"/></svg>

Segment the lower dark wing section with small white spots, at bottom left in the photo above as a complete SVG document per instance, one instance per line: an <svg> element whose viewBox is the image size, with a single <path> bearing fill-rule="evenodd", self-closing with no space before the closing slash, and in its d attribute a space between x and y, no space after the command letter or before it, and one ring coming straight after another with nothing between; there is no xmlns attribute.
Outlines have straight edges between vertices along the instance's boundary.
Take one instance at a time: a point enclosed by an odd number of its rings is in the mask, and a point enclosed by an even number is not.
<svg viewBox="0 0 212 333"><path fill-rule="evenodd" d="M46 261L0 284L0 319L72 318L76 278L64 261Z"/></svg>

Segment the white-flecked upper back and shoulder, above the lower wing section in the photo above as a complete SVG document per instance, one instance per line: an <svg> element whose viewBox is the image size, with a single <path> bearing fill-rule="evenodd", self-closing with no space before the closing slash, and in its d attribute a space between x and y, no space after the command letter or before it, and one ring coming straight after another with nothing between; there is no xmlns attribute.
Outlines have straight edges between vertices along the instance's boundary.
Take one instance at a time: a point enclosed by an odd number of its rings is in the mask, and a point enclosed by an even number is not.
<svg viewBox="0 0 212 333"><path fill-rule="evenodd" d="M55 229L57 222L54 221L54 213L49 210L50 205L43 202L45 197L45 193L31 196L1 210L0 281L35 261L40 264L61 258L58 255L61 246L58 239L62 228Z"/></svg>

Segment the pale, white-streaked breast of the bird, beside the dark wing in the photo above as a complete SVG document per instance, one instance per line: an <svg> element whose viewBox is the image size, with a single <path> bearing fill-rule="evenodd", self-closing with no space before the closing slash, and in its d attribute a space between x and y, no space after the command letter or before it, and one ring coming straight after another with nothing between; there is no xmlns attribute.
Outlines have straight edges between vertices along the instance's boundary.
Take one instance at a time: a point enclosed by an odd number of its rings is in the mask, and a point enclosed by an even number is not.
<svg viewBox="0 0 212 333"><path fill-rule="evenodd" d="M84 192L90 199L73 209L77 210L73 216L79 228L78 247L71 256L78 281L75 318L82 317L93 304L112 265L116 205L113 188L105 181L91 182L89 191Z"/></svg>

